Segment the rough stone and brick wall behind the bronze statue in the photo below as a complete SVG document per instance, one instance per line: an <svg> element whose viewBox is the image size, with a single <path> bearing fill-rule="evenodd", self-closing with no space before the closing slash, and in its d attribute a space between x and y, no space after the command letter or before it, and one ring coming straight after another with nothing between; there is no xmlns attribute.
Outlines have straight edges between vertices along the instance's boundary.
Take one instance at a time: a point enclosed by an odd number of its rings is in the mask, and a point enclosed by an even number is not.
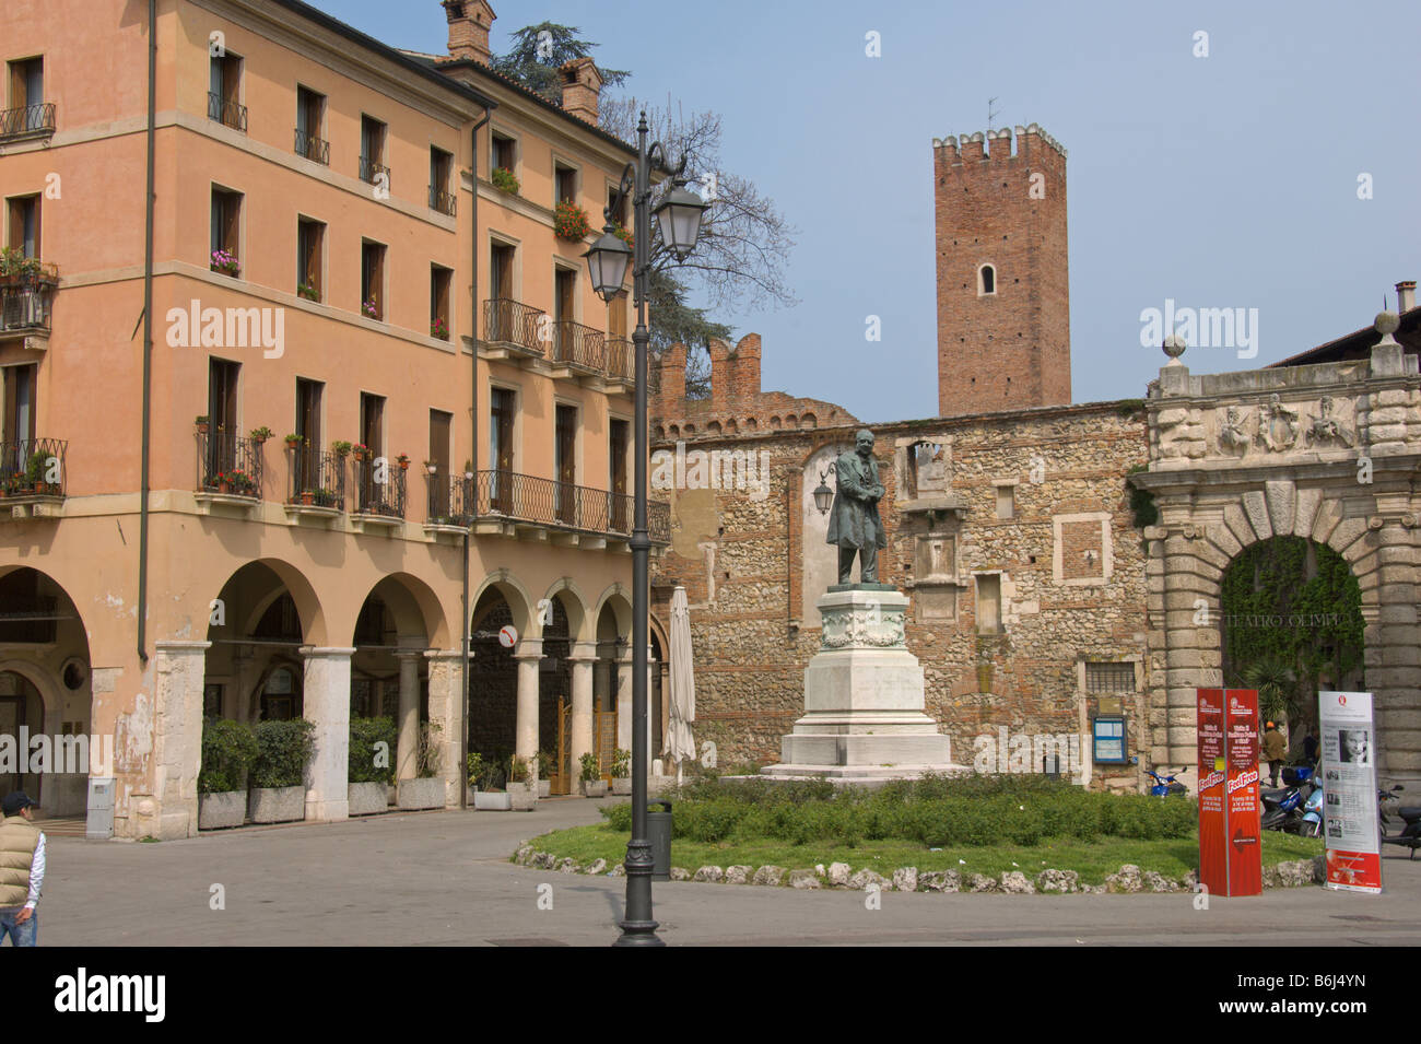
<svg viewBox="0 0 1421 1044"><path fill-rule="evenodd" d="M737 405L739 419L756 416L749 399ZM689 482L657 491L672 501L672 544L654 567L652 601L665 621L672 588L686 587L696 741L716 743L722 768L779 761L780 739L803 713L803 672L820 641L807 609L823 588L806 589L806 562L834 553L823 545L821 520L811 531L807 493L818 483L818 462L850 449L858 423L755 432L742 423L733 435L708 435L686 432L684 412L668 416L659 405L652 413L654 455L666 460L682 443L688 476L696 452L769 462L763 496L688 489ZM1137 678L1142 672L1144 561L1124 484L1147 460L1140 410L1094 403L872 430L890 533L880 580L914 601L908 646L924 666L926 712L952 736L953 758L971 764L973 740L1000 726L1012 734L1088 736L1097 706L1081 693L1080 665L1128 660L1140 665ZM918 442L939 446L945 464L934 474L909 462ZM1010 518L998 518L1003 483L1015 483ZM996 577L1000 634L978 635L979 574ZM988 665L990 672L979 669ZM1124 706L1131 754L1145 737L1142 690L1140 678ZM1137 783L1130 766L1094 774Z"/></svg>

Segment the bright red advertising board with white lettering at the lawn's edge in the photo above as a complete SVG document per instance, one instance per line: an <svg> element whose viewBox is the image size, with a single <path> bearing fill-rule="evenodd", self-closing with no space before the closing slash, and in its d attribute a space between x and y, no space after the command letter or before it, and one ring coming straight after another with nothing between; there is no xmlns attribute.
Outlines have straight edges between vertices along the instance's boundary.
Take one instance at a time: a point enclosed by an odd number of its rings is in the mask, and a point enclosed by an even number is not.
<svg viewBox="0 0 1421 1044"><path fill-rule="evenodd" d="M1198 689L1199 883L1260 895L1258 692Z"/></svg>

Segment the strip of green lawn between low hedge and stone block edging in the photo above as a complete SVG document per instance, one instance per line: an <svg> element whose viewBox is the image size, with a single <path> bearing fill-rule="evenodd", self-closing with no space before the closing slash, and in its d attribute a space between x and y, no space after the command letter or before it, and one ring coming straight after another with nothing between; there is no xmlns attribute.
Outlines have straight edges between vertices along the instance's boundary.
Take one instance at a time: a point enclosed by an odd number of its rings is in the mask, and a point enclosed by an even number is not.
<svg viewBox="0 0 1421 1044"><path fill-rule="evenodd" d="M530 842L536 849L551 852L557 858L571 857L585 866L593 859L605 859L608 866L621 862L627 855L627 834L615 831L608 824L594 827L573 827L543 834ZM1323 842L1299 838L1277 831L1263 831L1263 865L1307 859L1322 855ZM703 844L696 841L672 841L671 865L685 866L695 872L701 866L752 868L773 865L784 869L809 869L814 864L847 862L855 871L872 869L891 876L899 866L917 866L919 871L955 869L963 875L985 874L998 876L1003 871L1019 869L1034 878L1047 866L1076 871L1083 883L1104 883L1107 874L1114 874L1124 864L1134 864L1141 871L1178 879L1194 869L1199 861L1199 845L1194 838L1172 841L1131 841L1124 838L1098 838L1093 842L1076 838L1061 838L1036 847L992 845L986 848L944 848L931 851L909 841L864 841L847 845L814 844L793 845L784 841L750 839Z"/></svg>

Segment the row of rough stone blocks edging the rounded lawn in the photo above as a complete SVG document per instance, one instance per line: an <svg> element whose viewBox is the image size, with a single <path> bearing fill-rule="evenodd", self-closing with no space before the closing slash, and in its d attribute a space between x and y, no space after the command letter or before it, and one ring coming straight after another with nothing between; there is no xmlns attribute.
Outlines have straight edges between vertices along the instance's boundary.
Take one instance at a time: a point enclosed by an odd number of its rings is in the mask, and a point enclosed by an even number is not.
<svg viewBox="0 0 1421 1044"><path fill-rule="evenodd" d="M524 844L513 854L513 862L520 866L536 866L561 874L591 874L620 878L625 875L621 864L608 868L605 859L593 859L585 866L571 858L558 858ZM1106 895L1137 892L1194 892L1198 878L1189 871L1182 878L1167 878L1155 871L1141 871L1134 864L1125 864L1118 872L1106 878L1103 885L1083 885L1076 871L1043 869L1034 878L1022 871L1005 871L1000 876L983 874L962 874L959 871L919 871L917 866L899 866L892 876L885 878L877 871L854 871L847 862L818 864L813 869L786 869L784 866L701 866L689 871L685 866L671 868L672 881L699 881L703 883L770 885L780 888L817 889L840 888L880 892L995 892L998 895ZM1322 855L1312 859L1296 859L1263 868L1263 888L1299 888L1320 885L1327 879L1327 865Z"/></svg>

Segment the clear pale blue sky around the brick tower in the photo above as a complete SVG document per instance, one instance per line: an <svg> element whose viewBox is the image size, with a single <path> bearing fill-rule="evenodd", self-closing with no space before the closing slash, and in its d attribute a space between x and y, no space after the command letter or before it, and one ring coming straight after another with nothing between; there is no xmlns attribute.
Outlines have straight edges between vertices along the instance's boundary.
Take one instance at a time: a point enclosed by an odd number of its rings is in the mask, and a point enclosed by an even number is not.
<svg viewBox="0 0 1421 1044"><path fill-rule="evenodd" d="M436 0L315 3L392 45L445 48ZM865 420L936 413L932 139L985 131L989 97L998 126L1039 122L1070 152L1077 402L1145 393L1165 359L1141 347L1140 314L1165 298L1258 308L1256 358L1185 354L1221 372L1364 327L1421 278L1414 3L493 6L495 53L523 26L576 26L600 64L632 71L625 91L722 114L725 169L799 230L800 304L716 318L762 334L767 391ZM882 342L847 376L870 314Z"/></svg>

